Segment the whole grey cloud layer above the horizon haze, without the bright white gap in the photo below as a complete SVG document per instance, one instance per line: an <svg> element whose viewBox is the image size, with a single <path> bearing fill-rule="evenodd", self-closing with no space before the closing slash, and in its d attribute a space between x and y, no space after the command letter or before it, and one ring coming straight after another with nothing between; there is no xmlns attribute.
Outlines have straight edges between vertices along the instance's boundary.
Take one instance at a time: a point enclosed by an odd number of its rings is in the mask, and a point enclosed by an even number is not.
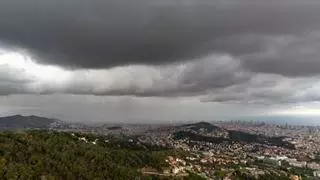
<svg viewBox="0 0 320 180"><path fill-rule="evenodd" d="M319 101L319 17L317 0L2 0L0 55L75 69L60 83L0 64L0 95Z"/></svg>

